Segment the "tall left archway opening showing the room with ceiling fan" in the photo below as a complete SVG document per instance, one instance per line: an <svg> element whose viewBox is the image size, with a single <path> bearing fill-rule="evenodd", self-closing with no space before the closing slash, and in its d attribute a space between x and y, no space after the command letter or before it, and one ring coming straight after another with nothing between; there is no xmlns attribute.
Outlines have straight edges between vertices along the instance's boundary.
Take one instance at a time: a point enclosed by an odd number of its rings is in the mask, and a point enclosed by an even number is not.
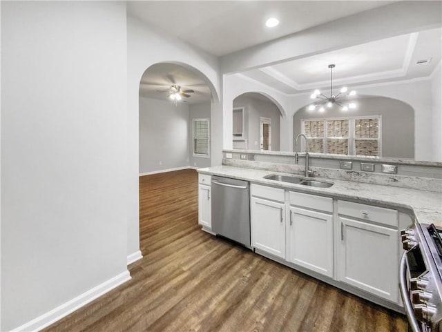
<svg viewBox="0 0 442 332"><path fill-rule="evenodd" d="M210 166L211 104L217 99L209 79L189 65L148 67L140 79L140 174Z"/></svg>

